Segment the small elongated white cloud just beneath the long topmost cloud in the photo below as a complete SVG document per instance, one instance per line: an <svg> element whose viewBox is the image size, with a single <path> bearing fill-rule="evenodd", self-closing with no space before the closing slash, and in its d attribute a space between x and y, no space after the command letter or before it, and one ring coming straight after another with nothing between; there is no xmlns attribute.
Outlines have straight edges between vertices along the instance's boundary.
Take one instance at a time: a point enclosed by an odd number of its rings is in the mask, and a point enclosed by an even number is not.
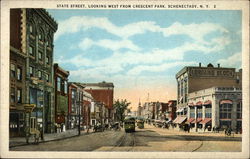
<svg viewBox="0 0 250 159"><path fill-rule="evenodd" d="M100 46L103 48L110 49L112 51L118 51L122 48L130 49L133 51L139 51L140 48L136 46L132 41L130 40L120 40L120 41L115 41L115 40L109 40L109 39L103 39L99 41L93 41L89 38L83 39L78 46L82 50L87 50L91 48L92 46Z"/></svg>

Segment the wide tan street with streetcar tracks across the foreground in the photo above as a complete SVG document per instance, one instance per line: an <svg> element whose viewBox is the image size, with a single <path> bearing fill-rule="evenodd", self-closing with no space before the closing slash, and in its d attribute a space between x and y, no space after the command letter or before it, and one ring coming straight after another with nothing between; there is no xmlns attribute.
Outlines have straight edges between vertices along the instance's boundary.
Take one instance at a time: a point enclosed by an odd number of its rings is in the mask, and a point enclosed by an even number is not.
<svg viewBox="0 0 250 159"><path fill-rule="evenodd" d="M241 136L223 133L186 133L145 124L134 133L104 131L59 141L10 148L10 151L172 151L240 152Z"/></svg>

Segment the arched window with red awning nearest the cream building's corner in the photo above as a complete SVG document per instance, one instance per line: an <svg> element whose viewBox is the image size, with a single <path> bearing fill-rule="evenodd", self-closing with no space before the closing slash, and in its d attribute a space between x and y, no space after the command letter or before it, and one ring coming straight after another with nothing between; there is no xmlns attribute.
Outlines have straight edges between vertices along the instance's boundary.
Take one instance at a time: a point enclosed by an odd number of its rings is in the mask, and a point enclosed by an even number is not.
<svg viewBox="0 0 250 159"><path fill-rule="evenodd" d="M222 100L220 102L220 119L232 118L233 103L230 100Z"/></svg>

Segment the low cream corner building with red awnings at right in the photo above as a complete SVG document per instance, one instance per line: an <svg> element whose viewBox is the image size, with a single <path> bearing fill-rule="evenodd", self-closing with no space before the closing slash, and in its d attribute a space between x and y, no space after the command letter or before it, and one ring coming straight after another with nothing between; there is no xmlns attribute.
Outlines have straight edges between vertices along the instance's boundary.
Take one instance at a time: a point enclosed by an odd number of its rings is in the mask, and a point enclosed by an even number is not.
<svg viewBox="0 0 250 159"><path fill-rule="evenodd" d="M188 123L198 131L208 126L239 131L242 128L241 88L211 87L190 93Z"/></svg>

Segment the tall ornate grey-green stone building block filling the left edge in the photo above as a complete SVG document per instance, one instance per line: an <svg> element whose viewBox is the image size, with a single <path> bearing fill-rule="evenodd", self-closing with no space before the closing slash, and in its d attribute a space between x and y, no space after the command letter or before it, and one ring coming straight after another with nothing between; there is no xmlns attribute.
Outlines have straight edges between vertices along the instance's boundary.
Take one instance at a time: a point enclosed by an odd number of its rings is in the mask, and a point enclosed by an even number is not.
<svg viewBox="0 0 250 159"><path fill-rule="evenodd" d="M10 10L10 134L13 131L17 134L17 130L20 134L25 124L29 127L29 121L24 123L24 104L35 105L28 119L37 123L42 133L54 130L53 36L56 30L57 23L44 9Z"/></svg>

